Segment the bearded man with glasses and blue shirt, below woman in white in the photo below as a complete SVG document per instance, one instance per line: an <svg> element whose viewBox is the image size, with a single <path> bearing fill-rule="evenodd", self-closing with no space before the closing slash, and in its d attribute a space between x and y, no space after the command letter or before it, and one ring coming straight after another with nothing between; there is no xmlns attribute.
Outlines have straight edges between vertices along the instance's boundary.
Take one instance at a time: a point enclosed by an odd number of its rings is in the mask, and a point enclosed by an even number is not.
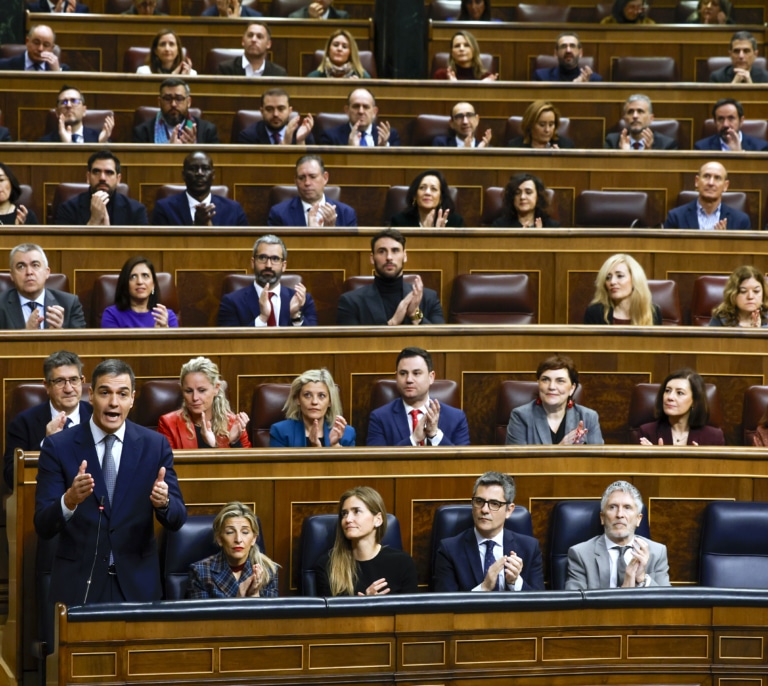
<svg viewBox="0 0 768 686"><path fill-rule="evenodd" d="M184 79L176 76L160 84L157 116L133 129L134 143L218 143L216 125L189 114L192 98Z"/></svg>

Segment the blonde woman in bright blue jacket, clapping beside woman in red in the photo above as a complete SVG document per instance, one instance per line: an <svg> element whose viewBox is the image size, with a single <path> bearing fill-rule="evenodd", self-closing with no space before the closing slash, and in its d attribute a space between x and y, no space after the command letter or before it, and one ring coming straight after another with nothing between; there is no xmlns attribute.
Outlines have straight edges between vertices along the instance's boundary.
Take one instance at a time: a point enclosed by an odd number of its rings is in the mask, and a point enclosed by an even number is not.
<svg viewBox="0 0 768 686"><path fill-rule="evenodd" d="M355 430L341 414L331 373L310 369L293 380L283 407L286 419L269 429L270 448L338 448L355 444Z"/></svg>

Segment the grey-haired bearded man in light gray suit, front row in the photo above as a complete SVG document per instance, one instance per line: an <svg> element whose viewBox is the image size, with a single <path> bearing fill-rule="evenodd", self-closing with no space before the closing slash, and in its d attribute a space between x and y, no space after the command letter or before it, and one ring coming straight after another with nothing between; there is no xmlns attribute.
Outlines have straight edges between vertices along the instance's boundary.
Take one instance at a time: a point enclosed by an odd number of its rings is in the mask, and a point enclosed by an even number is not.
<svg viewBox="0 0 768 686"><path fill-rule="evenodd" d="M600 502L605 534L568 550L566 590L669 586L667 547L635 536L642 518L637 488L627 481L608 486Z"/></svg>

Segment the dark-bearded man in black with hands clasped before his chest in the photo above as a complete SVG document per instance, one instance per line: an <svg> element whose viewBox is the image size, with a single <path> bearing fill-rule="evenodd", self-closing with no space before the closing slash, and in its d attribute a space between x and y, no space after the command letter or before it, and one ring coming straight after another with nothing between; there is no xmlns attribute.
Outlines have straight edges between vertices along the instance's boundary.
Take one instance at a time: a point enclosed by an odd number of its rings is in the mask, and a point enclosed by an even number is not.
<svg viewBox="0 0 768 686"><path fill-rule="evenodd" d="M59 205L57 224L71 226L113 226L147 224L147 208L117 192L120 160L109 150L88 158L85 180L88 190Z"/></svg>

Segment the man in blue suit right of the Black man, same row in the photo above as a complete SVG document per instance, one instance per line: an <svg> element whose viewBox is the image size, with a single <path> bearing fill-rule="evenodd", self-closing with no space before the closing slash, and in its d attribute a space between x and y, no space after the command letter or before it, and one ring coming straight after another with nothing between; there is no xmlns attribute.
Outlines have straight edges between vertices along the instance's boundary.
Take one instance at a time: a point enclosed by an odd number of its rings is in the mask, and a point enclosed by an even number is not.
<svg viewBox="0 0 768 686"><path fill-rule="evenodd" d="M296 162L297 196L269 210L268 226L357 226L357 213L343 202L325 197L328 172L319 155L303 155Z"/></svg>

